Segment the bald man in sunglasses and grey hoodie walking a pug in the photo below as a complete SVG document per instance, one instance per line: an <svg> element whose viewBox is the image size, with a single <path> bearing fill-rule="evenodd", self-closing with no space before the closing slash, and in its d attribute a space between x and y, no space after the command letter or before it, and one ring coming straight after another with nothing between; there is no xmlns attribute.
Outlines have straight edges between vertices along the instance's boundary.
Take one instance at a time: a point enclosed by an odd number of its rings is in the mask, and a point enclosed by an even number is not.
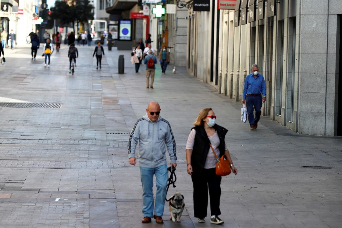
<svg viewBox="0 0 342 228"><path fill-rule="evenodd" d="M163 223L162 215L166 198L168 169L166 162L166 148L170 155L171 167L176 167L176 142L170 123L161 118L160 106L157 102L150 102L146 115L139 119L130 134L128 143L128 157L131 165L136 165L135 147L139 142L139 166L143 187L142 223L150 223L151 218ZM165 148L166 147L166 148ZM156 204L153 210L153 176L156 176ZM153 212L154 211L154 212Z"/></svg>

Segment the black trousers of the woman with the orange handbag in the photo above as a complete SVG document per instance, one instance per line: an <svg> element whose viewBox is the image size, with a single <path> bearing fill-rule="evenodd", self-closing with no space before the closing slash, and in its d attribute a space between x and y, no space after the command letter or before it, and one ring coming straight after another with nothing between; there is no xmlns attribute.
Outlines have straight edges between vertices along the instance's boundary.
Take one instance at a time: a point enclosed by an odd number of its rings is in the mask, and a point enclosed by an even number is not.
<svg viewBox="0 0 342 228"><path fill-rule="evenodd" d="M194 211L196 218L207 216L208 188L211 215L220 215L221 176L216 175L215 168L203 169L202 173L191 176L194 185Z"/></svg>

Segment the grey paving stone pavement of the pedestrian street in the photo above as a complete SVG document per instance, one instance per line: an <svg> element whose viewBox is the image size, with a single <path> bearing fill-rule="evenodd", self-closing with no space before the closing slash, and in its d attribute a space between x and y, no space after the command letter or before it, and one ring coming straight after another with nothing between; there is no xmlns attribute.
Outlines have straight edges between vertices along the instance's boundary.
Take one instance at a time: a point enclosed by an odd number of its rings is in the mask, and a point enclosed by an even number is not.
<svg viewBox="0 0 342 228"><path fill-rule="evenodd" d="M240 121L240 104L178 68L157 65L155 89L135 73L130 52L115 48L95 69L93 47L77 46L75 75L67 47L43 66L30 49L5 50L0 102L61 103L61 108L0 107L0 227L216 227L194 218L185 144L199 110L212 107L229 131L226 143L238 175L222 178L222 227L341 227L342 139L293 133L262 117L258 130ZM125 73L117 73L118 55ZM157 100L177 144L176 188L185 197L182 222L141 224L139 167L127 142L147 103ZM138 160L139 161L139 160ZM301 166L329 166L305 169ZM155 189L154 189L155 191ZM208 208L208 215L210 209Z"/></svg>

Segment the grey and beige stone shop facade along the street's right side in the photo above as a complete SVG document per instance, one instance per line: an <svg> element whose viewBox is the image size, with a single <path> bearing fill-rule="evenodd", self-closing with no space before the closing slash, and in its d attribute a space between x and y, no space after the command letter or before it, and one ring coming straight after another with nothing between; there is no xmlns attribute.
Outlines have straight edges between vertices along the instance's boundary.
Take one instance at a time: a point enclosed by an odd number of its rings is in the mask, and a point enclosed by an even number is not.
<svg viewBox="0 0 342 228"><path fill-rule="evenodd" d="M241 100L245 77L256 63L267 87L264 116L301 134L340 135L342 1L284 0L276 4L276 16L267 18L265 6L264 19L237 27L232 10L219 12L215 6L211 12L194 12L197 38L188 29L188 49L195 52L195 57L188 55L188 72L220 93ZM211 20L213 13L219 17L219 26L216 19ZM201 23L202 18L206 22ZM208 42L194 47L191 39ZM212 49L208 59L205 54Z"/></svg>

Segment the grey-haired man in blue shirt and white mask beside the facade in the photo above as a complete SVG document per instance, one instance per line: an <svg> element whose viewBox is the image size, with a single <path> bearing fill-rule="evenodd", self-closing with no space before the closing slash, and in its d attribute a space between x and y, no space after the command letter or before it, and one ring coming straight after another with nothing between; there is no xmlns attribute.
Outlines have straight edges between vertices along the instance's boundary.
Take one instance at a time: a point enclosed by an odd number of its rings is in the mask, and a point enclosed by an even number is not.
<svg viewBox="0 0 342 228"><path fill-rule="evenodd" d="M244 93L242 94L242 104L246 102L248 112L249 130L255 130L258 127L258 122L261 115L262 103L266 101L266 83L264 77L259 74L257 64L252 65L252 73L247 75ZM262 98L261 98L262 95ZM254 106L254 108L253 108ZM254 118L255 109L255 118Z"/></svg>

